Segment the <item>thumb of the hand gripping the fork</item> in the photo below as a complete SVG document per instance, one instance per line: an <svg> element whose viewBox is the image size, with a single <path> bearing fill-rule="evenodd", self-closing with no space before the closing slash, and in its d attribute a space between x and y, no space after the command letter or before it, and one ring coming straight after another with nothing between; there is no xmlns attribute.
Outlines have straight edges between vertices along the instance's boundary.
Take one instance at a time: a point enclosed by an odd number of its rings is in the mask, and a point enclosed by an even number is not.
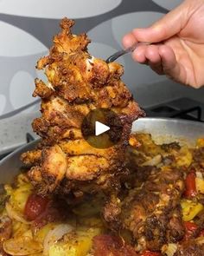
<svg viewBox="0 0 204 256"><path fill-rule="evenodd" d="M159 43L179 33L187 22L188 8L182 3L146 29L132 30L138 42Z"/></svg>

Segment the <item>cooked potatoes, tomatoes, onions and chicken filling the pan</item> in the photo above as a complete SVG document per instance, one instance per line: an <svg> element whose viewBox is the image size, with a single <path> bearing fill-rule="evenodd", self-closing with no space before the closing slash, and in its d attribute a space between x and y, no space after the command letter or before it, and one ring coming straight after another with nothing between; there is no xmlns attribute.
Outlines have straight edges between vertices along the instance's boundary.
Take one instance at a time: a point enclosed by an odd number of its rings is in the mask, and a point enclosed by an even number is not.
<svg viewBox="0 0 204 256"><path fill-rule="evenodd" d="M136 134L120 194L42 197L23 172L0 194L0 255L203 256L204 139Z"/></svg>

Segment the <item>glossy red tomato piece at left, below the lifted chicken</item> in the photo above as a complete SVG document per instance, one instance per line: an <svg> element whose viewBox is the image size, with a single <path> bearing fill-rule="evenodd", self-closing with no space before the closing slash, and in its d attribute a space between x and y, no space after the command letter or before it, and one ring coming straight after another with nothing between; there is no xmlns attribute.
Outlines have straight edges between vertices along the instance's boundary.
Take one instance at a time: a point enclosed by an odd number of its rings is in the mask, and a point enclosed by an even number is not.
<svg viewBox="0 0 204 256"><path fill-rule="evenodd" d="M48 199L37 194L30 194L26 202L24 214L28 220L35 220L44 212L48 205Z"/></svg>

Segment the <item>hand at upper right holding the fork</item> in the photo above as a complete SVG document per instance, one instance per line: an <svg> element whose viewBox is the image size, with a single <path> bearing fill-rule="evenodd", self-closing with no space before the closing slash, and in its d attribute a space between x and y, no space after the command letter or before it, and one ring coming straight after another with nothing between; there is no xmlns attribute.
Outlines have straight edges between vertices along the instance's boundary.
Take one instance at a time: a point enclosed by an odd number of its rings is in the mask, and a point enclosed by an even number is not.
<svg viewBox="0 0 204 256"><path fill-rule="evenodd" d="M125 48L138 47L132 57L159 75L200 88L204 85L204 0L185 0L150 28L135 29L123 38Z"/></svg>

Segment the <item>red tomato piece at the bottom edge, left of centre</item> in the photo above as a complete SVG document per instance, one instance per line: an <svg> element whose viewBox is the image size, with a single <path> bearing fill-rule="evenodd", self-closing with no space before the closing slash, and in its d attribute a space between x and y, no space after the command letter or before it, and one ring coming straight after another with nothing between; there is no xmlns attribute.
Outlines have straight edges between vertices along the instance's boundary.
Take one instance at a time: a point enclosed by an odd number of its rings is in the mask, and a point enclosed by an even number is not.
<svg viewBox="0 0 204 256"><path fill-rule="evenodd" d="M120 237L101 234L93 238L94 256L137 256L134 248L124 243Z"/></svg>

